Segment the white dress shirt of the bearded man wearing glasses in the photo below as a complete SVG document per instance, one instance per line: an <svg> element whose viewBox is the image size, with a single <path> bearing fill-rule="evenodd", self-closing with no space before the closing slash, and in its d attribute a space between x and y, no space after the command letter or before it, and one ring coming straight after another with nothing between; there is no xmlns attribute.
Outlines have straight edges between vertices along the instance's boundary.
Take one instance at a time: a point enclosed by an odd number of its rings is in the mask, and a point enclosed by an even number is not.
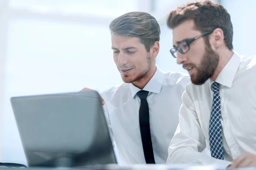
<svg viewBox="0 0 256 170"><path fill-rule="evenodd" d="M209 149L212 81L186 86L179 126L169 146L167 163L218 164L227 167L244 152L256 154L256 57L236 52L218 75L224 159L200 153Z"/></svg>

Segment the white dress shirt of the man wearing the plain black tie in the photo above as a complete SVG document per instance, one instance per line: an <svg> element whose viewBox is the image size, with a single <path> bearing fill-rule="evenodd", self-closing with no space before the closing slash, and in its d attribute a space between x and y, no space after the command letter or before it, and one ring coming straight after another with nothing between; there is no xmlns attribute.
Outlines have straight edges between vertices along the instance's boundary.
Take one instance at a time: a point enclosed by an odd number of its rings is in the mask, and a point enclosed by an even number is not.
<svg viewBox="0 0 256 170"><path fill-rule="evenodd" d="M157 68L143 88L147 101L150 131L156 164L166 164L168 147L178 125L181 96L190 77L182 73L163 72ZM140 136L140 91L132 83L123 83L101 94L104 111L114 140L119 164L145 164Z"/></svg>

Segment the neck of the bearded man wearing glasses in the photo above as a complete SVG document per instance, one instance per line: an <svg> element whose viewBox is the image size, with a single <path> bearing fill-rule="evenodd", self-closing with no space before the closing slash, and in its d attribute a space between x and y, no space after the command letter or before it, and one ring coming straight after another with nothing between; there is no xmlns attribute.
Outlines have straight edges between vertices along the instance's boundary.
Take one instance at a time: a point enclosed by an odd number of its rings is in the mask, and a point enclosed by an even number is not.
<svg viewBox="0 0 256 170"><path fill-rule="evenodd" d="M234 52L230 50L221 51L219 53L219 62L215 72L213 73L212 77L210 78L212 81L215 81L218 75L221 73L222 69L227 65L231 57L233 56Z"/></svg>

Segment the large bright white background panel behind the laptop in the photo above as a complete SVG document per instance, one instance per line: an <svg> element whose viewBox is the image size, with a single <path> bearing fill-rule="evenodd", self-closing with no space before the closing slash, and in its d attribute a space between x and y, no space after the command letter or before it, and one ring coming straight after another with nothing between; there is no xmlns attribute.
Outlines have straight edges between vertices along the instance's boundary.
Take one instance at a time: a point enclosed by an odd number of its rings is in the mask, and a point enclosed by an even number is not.
<svg viewBox="0 0 256 170"><path fill-rule="evenodd" d="M3 96L2 161L24 161L10 97L79 91L83 87L103 91L120 82L108 26L12 20Z"/></svg>

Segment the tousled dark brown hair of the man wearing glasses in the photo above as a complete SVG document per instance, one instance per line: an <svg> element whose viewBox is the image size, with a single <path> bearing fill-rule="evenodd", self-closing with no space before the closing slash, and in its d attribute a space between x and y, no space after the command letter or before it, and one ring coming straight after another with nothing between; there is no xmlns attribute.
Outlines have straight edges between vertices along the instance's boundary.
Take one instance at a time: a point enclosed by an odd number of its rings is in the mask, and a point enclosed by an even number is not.
<svg viewBox="0 0 256 170"><path fill-rule="evenodd" d="M196 28L201 33L221 28L225 45L229 50L233 49L233 26L230 14L219 3L197 0L179 6L169 13L167 26L172 29L183 21L191 19L194 20ZM207 36L205 39L209 41Z"/></svg>

